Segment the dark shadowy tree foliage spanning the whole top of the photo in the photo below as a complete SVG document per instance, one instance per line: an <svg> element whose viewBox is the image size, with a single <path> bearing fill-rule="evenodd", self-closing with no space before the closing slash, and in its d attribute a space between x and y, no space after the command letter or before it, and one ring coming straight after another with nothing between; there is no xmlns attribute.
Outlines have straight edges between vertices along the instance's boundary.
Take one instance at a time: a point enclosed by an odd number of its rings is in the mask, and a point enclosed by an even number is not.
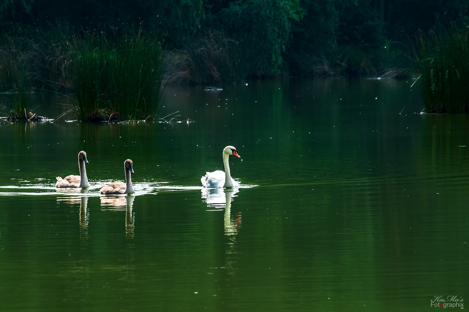
<svg viewBox="0 0 469 312"><path fill-rule="evenodd" d="M378 71L408 53L417 30L462 24L468 13L469 0L0 0L0 28L28 35L61 22L119 37L143 31L171 51L200 47L216 32L236 43L232 64L243 76L270 76L314 72L318 60L328 73L351 68L352 59ZM389 42L403 44L384 49Z"/></svg>

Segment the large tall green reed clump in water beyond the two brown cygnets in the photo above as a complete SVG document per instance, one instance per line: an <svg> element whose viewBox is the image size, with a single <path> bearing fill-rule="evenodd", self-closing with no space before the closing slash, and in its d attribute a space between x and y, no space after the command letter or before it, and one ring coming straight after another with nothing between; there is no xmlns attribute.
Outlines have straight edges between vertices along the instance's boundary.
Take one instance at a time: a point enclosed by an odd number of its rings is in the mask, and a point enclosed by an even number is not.
<svg viewBox="0 0 469 312"><path fill-rule="evenodd" d="M82 121L156 116L163 78L161 46L137 36L110 43L89 35L72 53L70 104Z"/></svg>

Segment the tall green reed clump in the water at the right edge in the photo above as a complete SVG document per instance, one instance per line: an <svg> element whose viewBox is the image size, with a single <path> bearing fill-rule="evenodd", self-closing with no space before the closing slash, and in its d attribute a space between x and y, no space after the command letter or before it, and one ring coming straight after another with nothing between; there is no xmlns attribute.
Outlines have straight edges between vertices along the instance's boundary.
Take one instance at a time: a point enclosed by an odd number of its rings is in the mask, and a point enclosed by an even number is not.
<svg viewBox="0 0 469 312"><path fill-rule="evenodd" d="M468 27L420 31L414 46L417 83L429 113L469 111Z"/></svg>

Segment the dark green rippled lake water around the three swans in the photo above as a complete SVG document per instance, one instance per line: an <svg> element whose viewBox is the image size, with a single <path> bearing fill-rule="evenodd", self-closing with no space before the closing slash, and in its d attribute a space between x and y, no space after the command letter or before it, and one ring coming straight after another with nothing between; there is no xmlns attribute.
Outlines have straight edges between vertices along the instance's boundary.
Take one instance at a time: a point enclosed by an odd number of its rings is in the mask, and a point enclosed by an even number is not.
<svg viewBox="0 0 469 312"><path fill-rule="evenodd" d="M412 83L166 87L170 123L0 121L0 311L464 304L469 116L419 114ZM55 118L60 103L38 94L33 107ZM202 189L226 145L241 187ZM80 150L91 188L55 189L79 174ZM126 159L136 194L99 196Z"/></svg>

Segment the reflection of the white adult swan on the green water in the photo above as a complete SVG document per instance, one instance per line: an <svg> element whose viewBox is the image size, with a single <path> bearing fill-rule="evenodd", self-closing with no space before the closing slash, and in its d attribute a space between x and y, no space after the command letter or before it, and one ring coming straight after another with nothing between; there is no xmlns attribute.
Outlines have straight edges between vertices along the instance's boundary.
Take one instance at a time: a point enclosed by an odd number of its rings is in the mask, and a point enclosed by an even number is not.
<svg viewBox="0 0 469 312"><path fill-rule="evenodd" d="M241 226L241 214L237 213L234 218L231 218L231 202L234 200L235 195L239 189L206 189L202 190L202 198L207 203L209 209L207 211L225 210L225 234L235 235L238 228Z"/></svg>

